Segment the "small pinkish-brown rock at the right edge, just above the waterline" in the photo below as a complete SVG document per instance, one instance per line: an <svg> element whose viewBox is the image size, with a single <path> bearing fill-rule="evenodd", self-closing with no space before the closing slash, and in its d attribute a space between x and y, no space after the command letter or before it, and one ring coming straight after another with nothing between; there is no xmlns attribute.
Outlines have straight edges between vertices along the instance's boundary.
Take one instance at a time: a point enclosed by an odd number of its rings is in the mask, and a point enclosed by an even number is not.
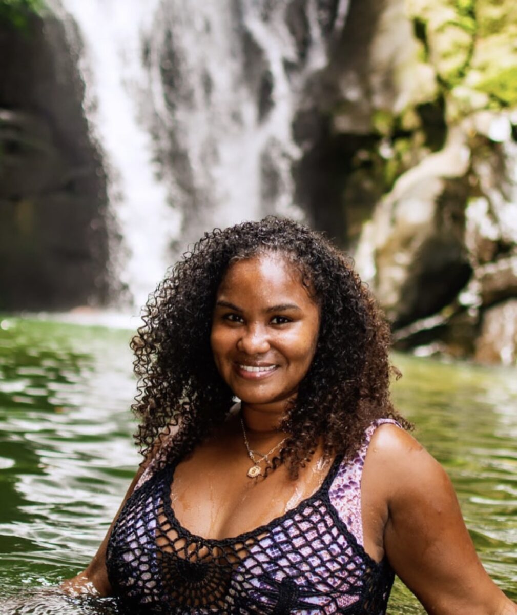
<svg viewBox="0 0 517 615"><path fill-rule="evenodd" d="M487 309L481 335L476 341L475 359L481 363L514 365L517 360L517 299Z"/></svg>

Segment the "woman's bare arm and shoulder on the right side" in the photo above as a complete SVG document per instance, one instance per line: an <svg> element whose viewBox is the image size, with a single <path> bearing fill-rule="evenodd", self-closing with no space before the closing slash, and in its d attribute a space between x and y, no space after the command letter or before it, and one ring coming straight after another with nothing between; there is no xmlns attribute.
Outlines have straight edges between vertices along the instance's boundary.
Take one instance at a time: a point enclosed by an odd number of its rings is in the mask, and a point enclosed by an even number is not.
<svg viewBox="0 0 517 615"><path fill-rule="evenodd" d="M388 510L385 553L427 613L517 615L481 565L440 464L392 425L377 429L372 448Z"/></svg>

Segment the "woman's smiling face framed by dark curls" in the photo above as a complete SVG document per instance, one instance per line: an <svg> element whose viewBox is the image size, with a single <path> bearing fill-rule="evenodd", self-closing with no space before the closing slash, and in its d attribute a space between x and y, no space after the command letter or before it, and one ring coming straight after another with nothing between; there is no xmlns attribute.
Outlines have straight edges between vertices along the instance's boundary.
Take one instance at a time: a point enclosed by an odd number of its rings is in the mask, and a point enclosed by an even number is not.
<svg viewBox="0 0 517 615"><path fill-rule="evenodd" d="M238 261L219 286L213 312L219 373L248 406L283 411L309 370L319 324L300 272L282 255Z"/></svg>

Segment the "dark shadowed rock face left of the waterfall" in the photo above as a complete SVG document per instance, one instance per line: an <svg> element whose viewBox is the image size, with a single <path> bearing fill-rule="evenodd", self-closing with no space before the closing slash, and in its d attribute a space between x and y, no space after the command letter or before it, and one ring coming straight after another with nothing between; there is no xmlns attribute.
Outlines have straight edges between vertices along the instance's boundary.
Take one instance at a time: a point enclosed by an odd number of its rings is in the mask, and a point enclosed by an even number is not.
<svg viewBox="0 0 517 615"><path fill-rule="evenodd" d="M0 310L106 301L105 175L57 20L0 27Z"/></svg>

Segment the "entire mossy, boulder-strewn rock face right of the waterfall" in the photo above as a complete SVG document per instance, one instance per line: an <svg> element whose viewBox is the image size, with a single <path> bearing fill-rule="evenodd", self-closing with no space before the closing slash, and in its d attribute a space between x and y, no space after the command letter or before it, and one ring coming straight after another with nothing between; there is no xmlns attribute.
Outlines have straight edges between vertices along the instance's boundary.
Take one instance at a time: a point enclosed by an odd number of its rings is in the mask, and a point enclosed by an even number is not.
<svg viewBox="0 0 517 615"><path fill-rule="evenodd" d="M368 161L382 193L369 193L358 268L399 347L515 362L515 6L390 0L372 23L333 114L336 135L370 144L341 181Z"/></svg>

